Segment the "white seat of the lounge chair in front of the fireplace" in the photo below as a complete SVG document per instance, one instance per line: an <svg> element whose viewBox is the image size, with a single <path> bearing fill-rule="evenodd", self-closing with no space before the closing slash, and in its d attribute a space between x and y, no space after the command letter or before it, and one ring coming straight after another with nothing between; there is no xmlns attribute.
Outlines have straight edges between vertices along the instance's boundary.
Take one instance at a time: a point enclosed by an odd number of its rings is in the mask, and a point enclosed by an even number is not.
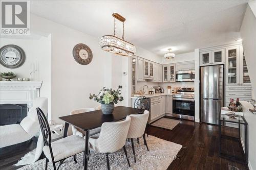
<svg viewBox="0 0 256 170"><path fill-rule="evenodd" d="M0 148L25 142L33 136L18 124L0 126Z"/></svg>

